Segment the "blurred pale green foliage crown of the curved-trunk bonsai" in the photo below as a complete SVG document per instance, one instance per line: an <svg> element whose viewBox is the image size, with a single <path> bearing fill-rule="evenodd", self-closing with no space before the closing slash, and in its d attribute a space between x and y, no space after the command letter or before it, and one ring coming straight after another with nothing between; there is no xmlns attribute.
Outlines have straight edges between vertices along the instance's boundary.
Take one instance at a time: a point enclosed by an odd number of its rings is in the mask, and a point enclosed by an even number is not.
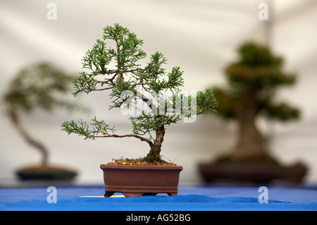
<svg viewBox="0 0 317 225"><path fill-rule="evenodd" d="M70 92L72 80L72 75L50 63L36 63L15 75L8 85L4 101L26 113L35 109L51 112L56 107L73 109L76 105L63 97Z"/></svg>

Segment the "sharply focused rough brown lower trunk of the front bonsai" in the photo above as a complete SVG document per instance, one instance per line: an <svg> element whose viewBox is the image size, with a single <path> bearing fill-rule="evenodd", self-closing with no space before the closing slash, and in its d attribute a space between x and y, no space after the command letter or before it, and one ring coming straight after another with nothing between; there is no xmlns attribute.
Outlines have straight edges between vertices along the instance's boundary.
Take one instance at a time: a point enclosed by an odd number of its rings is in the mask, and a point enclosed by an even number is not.
<svg viewBox="0 0 317 225"><path fill-rule="evenodd" d="M154 140L154 143L150 143L151 150L149 151L149 154L147 154L147 157L144 159L147 160L148 162L160 162L161 156L161 146L162 142L164 140L164 135L165 135L165 128L164 126L160 126L156 130L156 138Z"/></svg>

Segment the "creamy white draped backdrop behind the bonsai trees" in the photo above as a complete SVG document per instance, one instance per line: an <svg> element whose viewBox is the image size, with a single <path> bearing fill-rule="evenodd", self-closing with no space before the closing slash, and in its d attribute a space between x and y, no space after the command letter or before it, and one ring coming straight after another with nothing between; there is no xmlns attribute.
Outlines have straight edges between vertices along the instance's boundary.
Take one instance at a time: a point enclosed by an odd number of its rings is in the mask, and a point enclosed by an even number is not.
<svg viewBox="0 0 317 225"><path fill-rule="evenodd" d="M56 4L56 20L49 20L47 5ZM0 94L21 67L51 61L70 73L78 73L85 51L100 39L106 25L120 23L144 40L148 56L161 51L167 68L185 71L184 90L203 90L225 82L223 68L235 59L242 42L263 40L259 4L248 0L192 1L0 1ZM271 134L271 152L281 162L297 161L309 166L306 181L317 181L317 1L271 0L274 12L271 47L285 58L285 70L298 74L298 82L281 90L279 97L302 109L298 122L280 124L259 121L263 133ZM71 95L70 95L71 97ZM149 147L139 140L83 140L61 131L70 119L89 120L97 115L118 133L130 133L130 121L120 111L107 111L106 93L82 95L92 113L21 115L30 135L49 147L53 164L77 169L77 181L102 183L99 164L113 158L143 157ZM1 105L0 181L15 178L20 166L39 162L39 154L15 133ZM200 116L195 123L168 127L163 156L184 166L181 183L201 181L199 162L209 162L228 152L235 141L235 124L213 116Z"/></svg>

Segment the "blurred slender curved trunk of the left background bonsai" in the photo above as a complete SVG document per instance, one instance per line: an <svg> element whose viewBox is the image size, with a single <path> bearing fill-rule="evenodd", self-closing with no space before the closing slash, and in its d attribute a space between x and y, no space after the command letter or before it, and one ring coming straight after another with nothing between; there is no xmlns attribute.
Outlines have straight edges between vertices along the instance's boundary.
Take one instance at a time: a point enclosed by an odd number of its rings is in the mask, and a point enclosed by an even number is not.
<svg viewBox="0 0 317 225"><path fill-rule="evenodd" d="M18 114L16 113L14 107L11 104L8 105L7 113L16 130L18 130L18 133L22 135L22 137L28 144L35 147L42 154L42 166L46 166L48 164L48 151L46 150L46 147L44 147L41 143L31 138L30 135L25 131L25 129L20 123Z"/></svg>

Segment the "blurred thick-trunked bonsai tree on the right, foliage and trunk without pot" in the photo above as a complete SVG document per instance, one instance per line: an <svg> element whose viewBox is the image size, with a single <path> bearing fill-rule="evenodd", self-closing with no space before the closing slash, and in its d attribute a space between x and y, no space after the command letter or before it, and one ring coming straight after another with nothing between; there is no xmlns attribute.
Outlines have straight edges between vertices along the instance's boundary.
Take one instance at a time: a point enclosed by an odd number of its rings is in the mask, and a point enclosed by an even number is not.
<svg viewBox="0 0 317 225"><path fill-rule="evenodd" d="M228 88L214 87L221 105L218 116L237 121L237 145L231 159L269 159L266 140L256 127L256 118L276 121L299 118L299 110L286 102L276 102L278 87L292 85L295 75L282 70L282 58L259 44L243 44L239 59L225 68ZM272 158L271 158L272 159Z"/></svg>

